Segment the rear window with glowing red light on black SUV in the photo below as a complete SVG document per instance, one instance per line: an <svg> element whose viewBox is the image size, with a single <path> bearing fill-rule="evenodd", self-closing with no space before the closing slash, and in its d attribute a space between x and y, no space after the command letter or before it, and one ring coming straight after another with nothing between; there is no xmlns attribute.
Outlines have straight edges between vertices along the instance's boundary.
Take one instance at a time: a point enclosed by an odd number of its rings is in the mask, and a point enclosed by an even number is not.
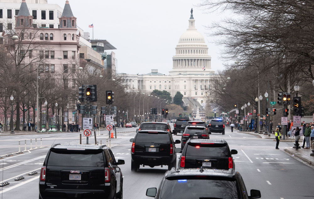
<svg viewBox="0 0 314 199"><path fill-rule="evenodd" d="M197 146L200 146L197 148ZM186 156L229 157L226 144L188 143Z"/></svg>

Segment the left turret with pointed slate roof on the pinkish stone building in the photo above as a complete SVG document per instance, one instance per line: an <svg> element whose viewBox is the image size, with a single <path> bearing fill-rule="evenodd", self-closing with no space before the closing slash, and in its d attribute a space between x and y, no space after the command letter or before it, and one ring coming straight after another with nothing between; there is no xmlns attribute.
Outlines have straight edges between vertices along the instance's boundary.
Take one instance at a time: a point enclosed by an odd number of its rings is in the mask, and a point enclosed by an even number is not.
<svg viewBox="0 0 314 199"><path fill-rule="evenodd" d="M32 27L33 24L33 16L30 15L28 11L28 7L25 0L22 0L21 7L19 9L19 13L15 16L15 27Z"/></svg>

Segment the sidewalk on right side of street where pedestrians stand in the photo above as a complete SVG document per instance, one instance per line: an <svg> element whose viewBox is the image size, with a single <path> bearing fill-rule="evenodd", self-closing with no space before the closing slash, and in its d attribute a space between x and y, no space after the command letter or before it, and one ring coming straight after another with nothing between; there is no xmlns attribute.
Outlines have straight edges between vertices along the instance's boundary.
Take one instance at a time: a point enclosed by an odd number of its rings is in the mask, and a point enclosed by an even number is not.
<svg viewBox="0 0 314 199"><path fill-rule="evenodd" d="M250 135L255 135L259 138L265 138L265 139L272 139L273 141L275 140L275 135L271 134L270 136L268 135L264 135L264 134L258 134L258 133L254 133L254 131L237 131L237 133L246 133L246 134L250 134ZM282 136L283 137L283 136ZM295 138L285 138L285 140L283 140L283 138L280 139L280 141L283 142L295 142ZM301 142L303 141L303 139L300 139L299 143L301 146ZM285 152L290 153L292 156L295 156L297 158L300 158L301 160L303 160L304 162L314 166L314 156L311 156L310 154L312 153L312 149L304 149L304 148L299 148L298 150L295 150L292 147L287 147L284 149Z"/></svg>

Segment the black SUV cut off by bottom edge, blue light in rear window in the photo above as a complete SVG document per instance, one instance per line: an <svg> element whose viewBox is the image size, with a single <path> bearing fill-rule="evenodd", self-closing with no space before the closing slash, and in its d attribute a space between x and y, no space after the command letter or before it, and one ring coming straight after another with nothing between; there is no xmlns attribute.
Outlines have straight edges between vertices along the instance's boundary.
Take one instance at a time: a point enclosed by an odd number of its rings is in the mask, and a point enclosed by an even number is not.
<svg viewBox="0 0 314 199"><path fill-rule="evenodd" d="M260 198L259 190L246 191L244 181L234 169L171 169L160 182L159 190L149 188L146 196L173 199L253 199Z"/></svg>

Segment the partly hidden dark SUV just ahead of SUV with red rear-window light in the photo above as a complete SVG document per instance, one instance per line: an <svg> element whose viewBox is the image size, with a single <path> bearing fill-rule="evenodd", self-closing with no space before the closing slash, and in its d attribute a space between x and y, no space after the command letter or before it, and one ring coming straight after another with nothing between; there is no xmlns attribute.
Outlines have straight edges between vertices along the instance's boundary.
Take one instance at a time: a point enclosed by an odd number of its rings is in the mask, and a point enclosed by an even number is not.
<svg viewBox="0 0 314 199"><path fill-rule="evenodd" d="M204 126L187 126L181 135L181 149L189 139L209 139Z"/></svg>

